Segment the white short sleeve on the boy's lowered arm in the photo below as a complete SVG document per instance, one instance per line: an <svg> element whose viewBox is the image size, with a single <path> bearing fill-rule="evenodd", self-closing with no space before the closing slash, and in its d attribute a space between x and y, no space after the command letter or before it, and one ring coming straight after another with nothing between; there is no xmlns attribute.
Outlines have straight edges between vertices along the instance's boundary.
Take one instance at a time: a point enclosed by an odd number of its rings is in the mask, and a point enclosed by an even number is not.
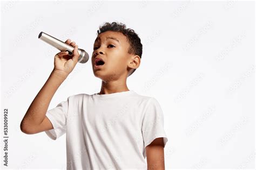
<svg viewBox="0 0 256 170"><path fill-rule="evenodd" d="M142 121L142 134L144 140L144 149L156 138L163 137L164 146L168 141L164 130L163 110L154 97L151 97L145 106Z"/></svg>

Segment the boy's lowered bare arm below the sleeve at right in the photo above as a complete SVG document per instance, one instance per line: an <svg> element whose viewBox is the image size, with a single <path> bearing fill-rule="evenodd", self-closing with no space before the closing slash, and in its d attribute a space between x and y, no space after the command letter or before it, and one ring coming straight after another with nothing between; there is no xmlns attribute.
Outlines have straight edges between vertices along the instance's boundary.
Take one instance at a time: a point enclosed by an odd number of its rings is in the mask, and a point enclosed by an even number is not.
<svg viewBox="0 0 256 170"><path fill-rule="evenodd" d="M156 138L146 146L147 169L165 169L164 140Z"/></svg>

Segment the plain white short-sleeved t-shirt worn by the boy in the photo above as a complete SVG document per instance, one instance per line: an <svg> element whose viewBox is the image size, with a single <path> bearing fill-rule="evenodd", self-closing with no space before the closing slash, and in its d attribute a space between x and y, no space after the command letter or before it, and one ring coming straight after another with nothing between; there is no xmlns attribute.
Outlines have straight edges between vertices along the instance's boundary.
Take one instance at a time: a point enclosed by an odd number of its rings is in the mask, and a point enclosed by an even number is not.
<svg viewBox="0 0 256 170"><path fill-rule="evenodd" d="M67 169L147 169L145 147L168 140L158 101L133 90L72 95L46 116L51 139L66 133Z"/></svg>

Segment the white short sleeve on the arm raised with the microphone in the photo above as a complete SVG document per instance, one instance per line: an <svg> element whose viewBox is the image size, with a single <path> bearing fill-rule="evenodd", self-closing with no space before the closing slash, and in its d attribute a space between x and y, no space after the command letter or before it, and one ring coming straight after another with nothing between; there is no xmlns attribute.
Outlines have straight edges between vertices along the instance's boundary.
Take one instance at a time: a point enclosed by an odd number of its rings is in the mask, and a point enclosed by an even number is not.
<svg viewBox="0 0 256 170"><path fill-rule="evenodd" d="M66 119L68 116L69 98L57 104L56 108L48 110L46 115L53 129L44 131L52 140L56 140L66 133Z"/></svg>

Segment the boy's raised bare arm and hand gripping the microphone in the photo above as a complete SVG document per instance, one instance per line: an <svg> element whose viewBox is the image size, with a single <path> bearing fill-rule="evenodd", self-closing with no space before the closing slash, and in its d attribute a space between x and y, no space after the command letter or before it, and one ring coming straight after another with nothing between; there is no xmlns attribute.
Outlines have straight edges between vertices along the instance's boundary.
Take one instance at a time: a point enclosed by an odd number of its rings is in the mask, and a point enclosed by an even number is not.
<svg viewBox="0 0 256 170"><path fill-rule="evenodd" d="M47 109L60 84L75 68L79 57L78 45L75 42L71 42L70 39L66 40L65 43L75 47L73 55L69 56L68 52L59 52L55 55L54 69L22 119L20 128L26 134L53 129L50 120L45 116Z"/></svg>

